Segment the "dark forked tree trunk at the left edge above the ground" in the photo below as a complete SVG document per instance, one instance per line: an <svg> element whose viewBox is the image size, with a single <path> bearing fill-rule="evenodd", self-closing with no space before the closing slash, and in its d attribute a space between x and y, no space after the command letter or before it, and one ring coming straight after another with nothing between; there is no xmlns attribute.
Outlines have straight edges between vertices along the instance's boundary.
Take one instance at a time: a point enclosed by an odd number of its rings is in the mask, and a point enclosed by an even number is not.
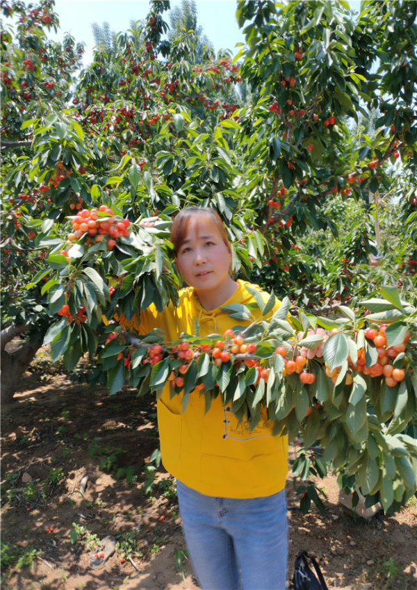
<svg viewBox="0 0 417 590"><path fill-rule="evenodd" d="M19 380L42 346L43 338L34 342L22 342L15 350L6 350L6 345L19 334L28 331L28 326L10 326L1 330L0 361L1 361L1 404L13 401Z"/></svg>

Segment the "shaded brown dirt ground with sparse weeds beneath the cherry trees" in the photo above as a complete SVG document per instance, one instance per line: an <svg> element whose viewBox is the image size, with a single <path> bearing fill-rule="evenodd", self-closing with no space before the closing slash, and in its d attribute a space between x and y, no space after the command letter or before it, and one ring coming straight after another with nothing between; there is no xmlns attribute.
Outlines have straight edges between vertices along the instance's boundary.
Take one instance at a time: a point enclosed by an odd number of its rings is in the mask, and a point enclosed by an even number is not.
<svg viewBox="0 0 417 590"><path fill-rule="evenodd" d="M145 466L158 447L153 400L129 390L109 396L49 370L26 373L15 402L2 408L3 590L198 590L172 478L158 468L145 493ZM128 468L136 482L126 481L134 479ZM416 590L416 499L395 516L365 521L340 505L334 478L320 486L325 515L314 508L303 516L288 473L288 579L306 549L329 590ZM117 549L90 568L107 535Z"/></svg>

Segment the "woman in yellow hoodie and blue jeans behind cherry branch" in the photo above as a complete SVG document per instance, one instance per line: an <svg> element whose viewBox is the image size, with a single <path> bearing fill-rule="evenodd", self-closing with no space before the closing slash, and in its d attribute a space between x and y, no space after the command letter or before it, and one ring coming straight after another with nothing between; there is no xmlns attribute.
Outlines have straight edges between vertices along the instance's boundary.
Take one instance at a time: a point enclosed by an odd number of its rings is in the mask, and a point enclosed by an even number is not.
<svg viewBox="0 0 417 590"><path fill-rule="evenodd" d="M223 335L236 320L221 307L250 304L254 297L247 282L229 273L231 245L222 220L210 208L183 209L172 223L171 240L188 284L179 306L158 313L152 305L122 323L141 334L161 328L167 342L183 332L194 334L195 320L199 337ZM199 391L190 394L183 411L181 395L171 398L169 385L158 400L162 461L177 479L183 530L202 590L285 589L287 439L273 435L264 418L250 430L220 395L206 411Z"/></svg>

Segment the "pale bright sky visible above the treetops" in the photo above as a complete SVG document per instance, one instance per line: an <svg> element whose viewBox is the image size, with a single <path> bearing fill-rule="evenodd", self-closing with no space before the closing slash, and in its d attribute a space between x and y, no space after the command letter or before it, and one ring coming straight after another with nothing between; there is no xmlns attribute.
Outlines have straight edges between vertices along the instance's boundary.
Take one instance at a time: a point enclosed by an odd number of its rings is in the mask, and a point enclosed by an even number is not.
<svg viewBox="0 0 417 590"><path fill-rule="evenodd" d="M181 1L171 0L171 9L174 6L181 6ZM196 6L197 24L202 26L215 51L231 49L236 54L236 43L245 40L236 22L236 0L196 0ZM149 0L56 0L55 11L60 29L57 35L51 30L49 36L61 41L67 32L76 42L85 42L83 65L88 65L95 44L92 24L102 26L108 22L111 31L124 33L129 30L132 20L146 17ZM170 24L168 13L163 13L163 19Z"/></svg>

